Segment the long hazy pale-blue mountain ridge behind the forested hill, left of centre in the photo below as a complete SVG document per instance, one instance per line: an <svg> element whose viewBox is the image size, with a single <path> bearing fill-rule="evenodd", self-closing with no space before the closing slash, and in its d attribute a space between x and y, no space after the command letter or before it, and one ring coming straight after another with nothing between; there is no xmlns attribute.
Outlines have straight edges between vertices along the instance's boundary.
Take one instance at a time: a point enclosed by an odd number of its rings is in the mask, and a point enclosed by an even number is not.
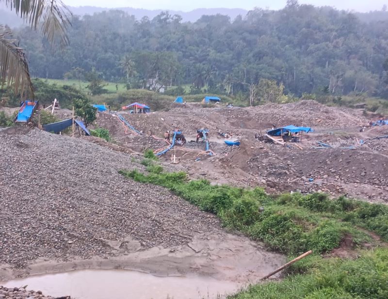
<svg viewBox="0 0 388 299"><path fill-rule="evenodd" d="M107 10L121 10L129 15L133 15L136 19L141 19L143 16L148 16L150 19L158 16L163 11L168 11L170 15L179 15L184 22L195 22L203 15L225 15L233 20L236 16L245 16L248 11L241 8L197 8L190 12L174 11L168 9L149 10L142 8L118 7L118 8L104 8L96 6L69 6L70 11L76 16L93 15Z"/></svg>

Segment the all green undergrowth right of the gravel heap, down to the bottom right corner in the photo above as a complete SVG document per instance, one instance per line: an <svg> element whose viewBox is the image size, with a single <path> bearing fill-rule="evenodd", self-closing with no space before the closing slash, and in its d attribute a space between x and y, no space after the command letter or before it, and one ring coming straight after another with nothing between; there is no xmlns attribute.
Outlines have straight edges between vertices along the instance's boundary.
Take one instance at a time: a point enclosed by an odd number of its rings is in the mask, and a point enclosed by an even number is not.
<svg viewBox="0 0 388 299"><path fill-rule="evenodd" d="M315 254L293 264L281 282L250 286L229 299L386 299L388 249L362 250L355 260L322 258L351 236L355 247L372 241L363 227L388 241L388 206L344 197L298 193L269 196L262 189L213 186L207 180L187 179L186 173L163 173L147 167L120 173L138 182L160 185L216 214L224 226L260 240L291 260L310 249Z"/></svg>

